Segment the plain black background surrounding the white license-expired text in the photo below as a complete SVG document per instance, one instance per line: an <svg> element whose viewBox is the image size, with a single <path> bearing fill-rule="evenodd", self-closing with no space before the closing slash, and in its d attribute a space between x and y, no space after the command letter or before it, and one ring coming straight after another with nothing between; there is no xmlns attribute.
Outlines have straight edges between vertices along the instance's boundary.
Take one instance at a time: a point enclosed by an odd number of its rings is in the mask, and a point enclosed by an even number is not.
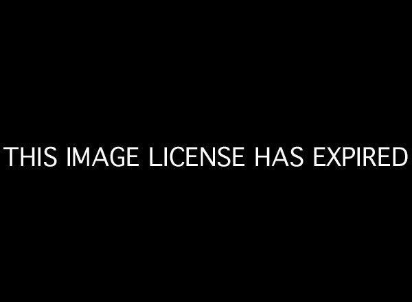
<svg viewBox="0 0 412 302"><path fill-rule="evenodd" d="M211 297L402 287L410 163L316 169L311 150L410 152L407 20L370 8L170 9L10 16L1 146L247 146L248 167L3 165L8 283ZM255 146L308 156L301 169L257 170Z"/></svg>

